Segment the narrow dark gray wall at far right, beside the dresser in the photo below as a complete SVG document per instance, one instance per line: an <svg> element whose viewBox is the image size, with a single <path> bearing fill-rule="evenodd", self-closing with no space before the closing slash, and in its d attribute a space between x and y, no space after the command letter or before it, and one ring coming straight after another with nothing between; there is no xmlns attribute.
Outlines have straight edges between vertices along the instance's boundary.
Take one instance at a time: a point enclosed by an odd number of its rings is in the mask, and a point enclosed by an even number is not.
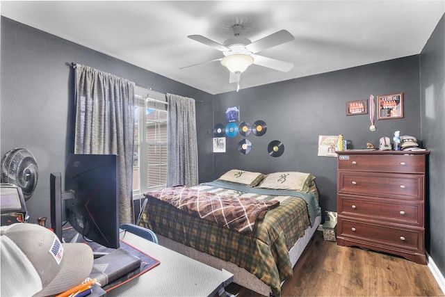
<svg viewBox="0 0 445 297"><path fill-rule="evenodd" d="M445 275L445 20L420 55L421 132L431 150L426 207L426 250Z"/></svg>

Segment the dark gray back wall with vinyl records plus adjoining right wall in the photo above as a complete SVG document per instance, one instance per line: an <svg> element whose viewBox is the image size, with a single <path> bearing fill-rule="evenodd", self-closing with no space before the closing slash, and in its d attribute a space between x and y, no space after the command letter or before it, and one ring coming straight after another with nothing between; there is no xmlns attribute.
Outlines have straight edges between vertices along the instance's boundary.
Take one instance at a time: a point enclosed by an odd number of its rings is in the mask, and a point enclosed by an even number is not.
<svg viewBox="0 0 445 297"><path fill-rule="evenodd" d="M296 65L298 67L298 65ZM247 75L247 73L246 73ZM241 79L242 83L242 79ZM376 120L369 131L369 114L346 116L346 102L367 99L369 94L404 93L405 117ZM426 195L426 250L445 275L445 21L437 24L418 56L374 63L273 83L216 96L215 122L225 124L225 109L240 106L240 121L264 120L267 132L247 137L252 151L238 152L241 136L227 139L227 152L214 154L214 173L239 168L264 173L276 170L312 172L321 194L321 207L335 210L337 160L317 156L318 135L343 134L354 148L367 142L378 145L381 136L392 139L394 131L418 138L431 151ZM284 143L284 154L268 155L270 141ZM209 178L210 179L210 178Z"/></svg>

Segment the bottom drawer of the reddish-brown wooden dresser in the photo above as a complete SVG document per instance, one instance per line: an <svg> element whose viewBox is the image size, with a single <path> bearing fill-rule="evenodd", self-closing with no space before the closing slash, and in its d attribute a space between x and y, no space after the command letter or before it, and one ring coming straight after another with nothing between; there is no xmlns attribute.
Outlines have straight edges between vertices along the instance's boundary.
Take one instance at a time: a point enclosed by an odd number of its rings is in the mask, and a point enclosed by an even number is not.
<svg viewBox="0 0 445 297"><path fill-rule="evenodd" d="M379 246L392 246L423 251L423 230L398 229L352 220L339 220L339 236L373 242Z"/></svg>

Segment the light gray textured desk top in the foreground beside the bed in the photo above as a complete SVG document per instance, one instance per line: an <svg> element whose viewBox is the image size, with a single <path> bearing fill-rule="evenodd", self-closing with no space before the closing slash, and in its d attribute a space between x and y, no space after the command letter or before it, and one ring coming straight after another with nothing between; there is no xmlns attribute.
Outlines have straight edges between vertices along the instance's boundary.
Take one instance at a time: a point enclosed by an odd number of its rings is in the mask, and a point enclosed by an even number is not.
<svg viewBox="0 0 445 297"><path fill-rule="evenodd" d="M147 241L130 232L120 239L147 253L161 264L134 280L107 292L106 296L213 296L234 278L224 269L207 264Z"/></svg>

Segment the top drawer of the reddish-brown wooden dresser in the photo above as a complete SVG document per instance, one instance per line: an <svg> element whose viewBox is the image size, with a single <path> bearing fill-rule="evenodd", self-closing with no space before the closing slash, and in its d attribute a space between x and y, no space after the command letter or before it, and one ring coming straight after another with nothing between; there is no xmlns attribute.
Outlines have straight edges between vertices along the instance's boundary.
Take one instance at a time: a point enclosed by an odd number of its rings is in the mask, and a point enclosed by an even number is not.
<svg viewBox="0 0 445 297"><path fill-rule="evenodd" d="M425 156L341 154L339 155L339 170L423 173L425 172Z"/></svg>

